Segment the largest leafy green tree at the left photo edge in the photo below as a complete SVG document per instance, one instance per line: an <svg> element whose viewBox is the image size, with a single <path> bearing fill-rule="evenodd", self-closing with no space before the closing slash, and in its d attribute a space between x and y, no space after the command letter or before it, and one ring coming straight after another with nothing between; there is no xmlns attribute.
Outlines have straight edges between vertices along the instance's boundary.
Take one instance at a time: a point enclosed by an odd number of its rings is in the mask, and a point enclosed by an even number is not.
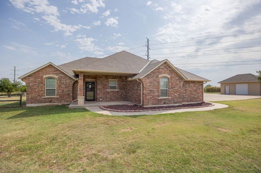
<svg viewBox="0 0 261 173"><path fill-rule="evenodd" d="M8 78L2 78L0 79L0 92L6 92L10 97L12 92L19 91L21 85L20 81L12 83Z"/></svg>

